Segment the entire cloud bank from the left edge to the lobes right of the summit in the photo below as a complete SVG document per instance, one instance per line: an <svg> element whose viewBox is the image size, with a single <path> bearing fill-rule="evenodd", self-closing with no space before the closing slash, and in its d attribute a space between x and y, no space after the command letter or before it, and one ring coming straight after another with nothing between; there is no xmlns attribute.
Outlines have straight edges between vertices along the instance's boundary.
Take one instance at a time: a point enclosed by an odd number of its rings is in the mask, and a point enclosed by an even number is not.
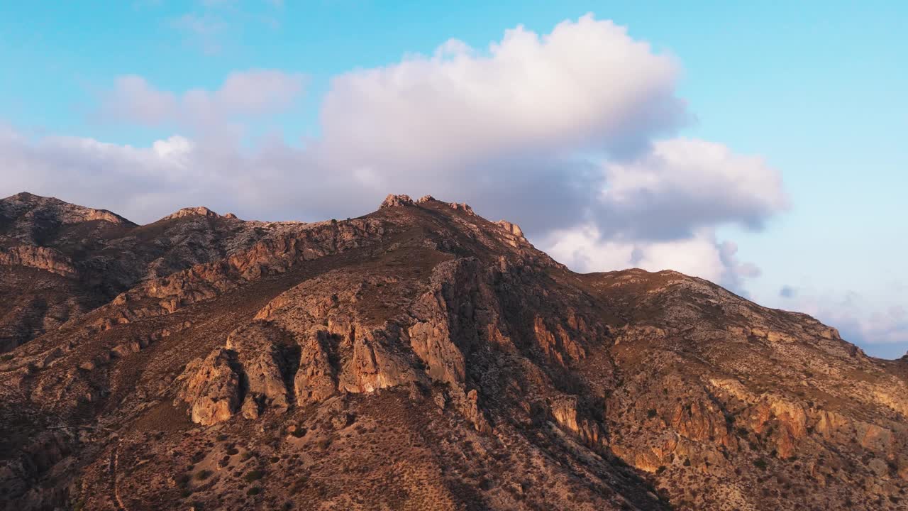
<svg viewBox="0 0 908 511"><path fill-rule="evenodd" d="M124 76L101 102L105 118L173 126L192 140L133 148L48 138L5 151L47 181L61 174L69 192L83 189L80 179L115 186L116 208L140 220L202 201L259 217L346 216L390 192L433 194L519 222L577 269L670 267L740 289L758 269L716 240L716 226L759 228L785 208L781 179L755 156L673 138L690 117L679 72L624 27L585 15L546 35L518 26L481 50L450 40L432 55L339 75L322 102L321 136L305 148L241 142L243 123L281 112L303 83L247 71L184 92ZM189 185L173 185L181 181ZM90 194L65 198L98 204Z"/></svg>

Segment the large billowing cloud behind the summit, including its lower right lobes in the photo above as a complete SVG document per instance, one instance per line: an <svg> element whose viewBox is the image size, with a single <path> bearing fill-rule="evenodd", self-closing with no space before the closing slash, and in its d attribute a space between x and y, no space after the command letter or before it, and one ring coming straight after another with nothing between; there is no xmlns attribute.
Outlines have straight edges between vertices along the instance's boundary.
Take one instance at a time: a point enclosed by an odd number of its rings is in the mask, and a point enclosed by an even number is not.
<svg viewBox="0 0 908 511"><path fill-rule="evenodd" d="M450 40L337 77L311 147L380 193L440 189L517 220L577 268L677 267L741 289L758 270L713 229L760 228L787 205L781 178L723 145L662 138L690 117L678 75L592 15L548 35L518 26L486 51Z"/></svg>

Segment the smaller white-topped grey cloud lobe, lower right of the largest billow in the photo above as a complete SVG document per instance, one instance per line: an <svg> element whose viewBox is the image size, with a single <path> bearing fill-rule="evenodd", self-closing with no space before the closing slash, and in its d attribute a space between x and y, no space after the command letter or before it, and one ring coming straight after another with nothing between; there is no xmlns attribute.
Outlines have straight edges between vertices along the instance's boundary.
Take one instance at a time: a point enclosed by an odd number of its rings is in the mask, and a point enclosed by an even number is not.
<svg viewBox="0 0 908 511"><path fill-rule="evenodd" d="M781 176L762 158L705 140L658 140L605 174L598 215L624 236L676 239L722 223L757 229L787 206Z"/></svg>

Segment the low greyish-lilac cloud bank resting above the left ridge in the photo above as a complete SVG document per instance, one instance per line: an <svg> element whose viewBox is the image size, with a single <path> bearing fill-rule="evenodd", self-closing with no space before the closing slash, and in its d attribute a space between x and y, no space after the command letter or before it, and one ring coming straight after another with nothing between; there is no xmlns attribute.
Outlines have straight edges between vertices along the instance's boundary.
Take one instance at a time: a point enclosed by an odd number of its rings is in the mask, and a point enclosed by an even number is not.
<svg viewBox="0 0 908 511"><path fill-rule="evenodd" d="M328 207L337 203L332 197L339 195L339 180L314 174L304 153L281 144L243 151L174 135L133 147L84 137L32 139L6 128L0 129L0 159L0 196L24 190L52 195L139 223L187 205L271 220L323 219L338 215L338 209L345 216L357 210ZM322 185L313 188L313 182ZM301 212L301 203L308 212Z"/></svg>

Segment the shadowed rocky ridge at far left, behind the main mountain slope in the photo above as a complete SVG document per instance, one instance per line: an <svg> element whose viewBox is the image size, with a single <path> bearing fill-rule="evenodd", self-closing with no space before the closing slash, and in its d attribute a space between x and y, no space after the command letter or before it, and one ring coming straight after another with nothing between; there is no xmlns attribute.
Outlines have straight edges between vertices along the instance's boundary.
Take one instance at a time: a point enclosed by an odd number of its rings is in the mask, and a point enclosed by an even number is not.
<svg viewBox="0 0 908 511"><path fill-rule="evenodd" d="M0 294L13 297L0 310L0 353L144 279L220 261L296 226L242 222L206 207L134 225L109 211L50 197L0 199Z"/></svg>

